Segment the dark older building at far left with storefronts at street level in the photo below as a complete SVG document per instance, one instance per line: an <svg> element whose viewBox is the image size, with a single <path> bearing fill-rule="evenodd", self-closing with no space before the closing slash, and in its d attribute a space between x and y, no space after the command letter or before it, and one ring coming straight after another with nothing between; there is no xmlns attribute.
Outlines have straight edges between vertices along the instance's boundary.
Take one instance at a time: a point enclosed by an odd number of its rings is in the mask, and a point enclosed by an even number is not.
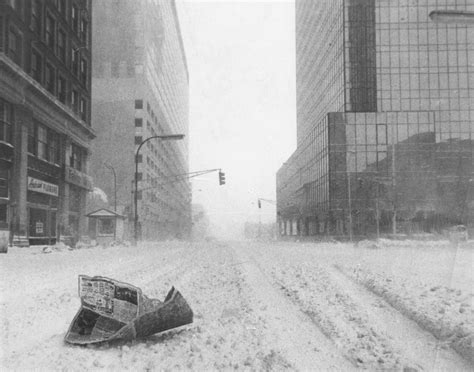
<svg viewBox="0 0 474 372"><path fill-rule="evenodd" d="M0 2L0 231L10 243L86 232L90 0Z"/></svg>

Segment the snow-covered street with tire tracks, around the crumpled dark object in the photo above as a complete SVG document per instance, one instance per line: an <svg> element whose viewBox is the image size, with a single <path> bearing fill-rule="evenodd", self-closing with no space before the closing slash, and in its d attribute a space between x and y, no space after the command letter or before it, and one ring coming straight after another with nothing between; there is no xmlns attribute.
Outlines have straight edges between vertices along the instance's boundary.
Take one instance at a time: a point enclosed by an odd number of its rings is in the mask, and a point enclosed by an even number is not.
<svg viewBox="0 0 474 372"><path fill-rule="evenodd" d="M472 242L166 242L12 248L0 256L7 370L472 370ZM79 274L163 299L188 326L94 347L63 342Z"/></svg>

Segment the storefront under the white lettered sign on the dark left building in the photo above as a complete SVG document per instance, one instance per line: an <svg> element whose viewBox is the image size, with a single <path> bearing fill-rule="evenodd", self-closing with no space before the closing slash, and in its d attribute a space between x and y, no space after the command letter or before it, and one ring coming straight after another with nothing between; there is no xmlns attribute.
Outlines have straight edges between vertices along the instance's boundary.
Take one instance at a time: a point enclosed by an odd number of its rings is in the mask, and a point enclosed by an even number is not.
<svg viewBox="0 0 474 372"><path fill-rule="evenodd" d="M55 244L59 187L28 177L28 240L30 245Z"/></svg>

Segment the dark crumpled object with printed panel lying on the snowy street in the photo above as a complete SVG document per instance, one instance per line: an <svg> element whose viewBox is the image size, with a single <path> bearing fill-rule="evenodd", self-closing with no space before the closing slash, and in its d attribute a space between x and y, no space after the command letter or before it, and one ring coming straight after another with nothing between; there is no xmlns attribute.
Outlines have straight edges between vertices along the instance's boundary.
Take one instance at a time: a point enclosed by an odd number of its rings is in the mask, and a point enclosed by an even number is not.
<svg viewBox="0 0 474 372"><path fill-rule="evenodd" d="M140 288L102 276L79 276L81 308L66 333L70 344L132 340L192 323L193 312L174 287L163 302Z"/></svg>

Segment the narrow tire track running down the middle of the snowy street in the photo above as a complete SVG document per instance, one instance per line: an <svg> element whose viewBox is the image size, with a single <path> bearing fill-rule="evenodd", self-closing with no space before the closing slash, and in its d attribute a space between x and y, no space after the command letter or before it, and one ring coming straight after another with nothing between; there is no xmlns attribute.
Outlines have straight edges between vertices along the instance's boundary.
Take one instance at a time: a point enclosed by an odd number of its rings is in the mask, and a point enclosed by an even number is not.
<svg viewBox="0 0 474 372"><path fill-rule="evenodd" d="M307 315L273 287L254 257L234 246L239 268L260 302L262 316L276 332L275 342L297 370L353 370L355 366L334 348Z"/></svg>

